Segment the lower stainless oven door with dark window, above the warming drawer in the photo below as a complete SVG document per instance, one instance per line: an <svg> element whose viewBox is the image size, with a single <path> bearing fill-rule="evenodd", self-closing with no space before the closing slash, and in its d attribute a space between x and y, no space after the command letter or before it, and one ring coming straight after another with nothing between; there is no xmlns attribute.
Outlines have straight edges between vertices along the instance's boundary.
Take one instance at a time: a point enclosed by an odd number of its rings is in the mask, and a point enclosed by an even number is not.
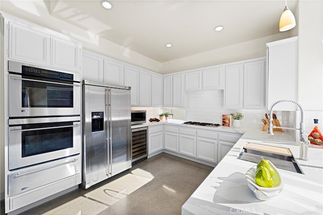
<svg viewBox="0 0 323 215"><path fill-rule="evenodd" d="M62 122L50 122L49 119L36 118L34 121L38 121L38 123L10 125L9 170L46 163L81 153L80 117L57 119L57 121ZM33 119L23 120L32 121ZM13 121L10 120L10 124Z"/></svg>

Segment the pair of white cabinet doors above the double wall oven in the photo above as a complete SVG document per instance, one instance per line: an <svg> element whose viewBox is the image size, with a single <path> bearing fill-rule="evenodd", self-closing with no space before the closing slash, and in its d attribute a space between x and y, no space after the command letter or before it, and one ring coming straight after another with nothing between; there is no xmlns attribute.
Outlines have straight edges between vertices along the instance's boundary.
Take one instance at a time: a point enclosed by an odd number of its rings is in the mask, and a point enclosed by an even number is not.
<svg viewBox="0 0 323 215"><path fill-rule="evenodd" d="M81 43L50 32L37 25L9 21L9 59L80 72Z"/></svg>

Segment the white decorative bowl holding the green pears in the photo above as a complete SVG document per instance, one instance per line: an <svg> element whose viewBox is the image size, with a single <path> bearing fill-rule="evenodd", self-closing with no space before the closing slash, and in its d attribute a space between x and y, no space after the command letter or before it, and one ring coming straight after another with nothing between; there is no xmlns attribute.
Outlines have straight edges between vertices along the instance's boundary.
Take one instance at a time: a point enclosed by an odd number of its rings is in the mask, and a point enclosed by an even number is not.
<svg viewBox="0 0 323 215"><path fill-rule="evenodd" d="M282 177L279 175L276 167L268 160L268 162L272 165L275 170L275 175L273 176L274 185L273 187L261 187L256 184L254 180L254 173L256 172L257 165L250 168L246 172L246 179L248 182L248 187L253 192L253 194L260 200L267 200L274 196L277 196L283 190L284 182ZM280 181L280 183L278 183ZM276 183L275 183L276 182Z"/></svg>

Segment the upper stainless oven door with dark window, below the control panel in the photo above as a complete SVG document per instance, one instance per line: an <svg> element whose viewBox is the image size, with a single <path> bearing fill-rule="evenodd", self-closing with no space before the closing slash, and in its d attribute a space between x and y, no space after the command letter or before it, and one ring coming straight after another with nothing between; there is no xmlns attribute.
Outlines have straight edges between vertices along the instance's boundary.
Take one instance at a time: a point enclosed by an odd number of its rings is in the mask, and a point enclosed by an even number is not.
<svg viewBox="0 0 323 215"><path fill-rule="evenodd" d="M9 117L80 115L80 83L9 74Z"/></svg>

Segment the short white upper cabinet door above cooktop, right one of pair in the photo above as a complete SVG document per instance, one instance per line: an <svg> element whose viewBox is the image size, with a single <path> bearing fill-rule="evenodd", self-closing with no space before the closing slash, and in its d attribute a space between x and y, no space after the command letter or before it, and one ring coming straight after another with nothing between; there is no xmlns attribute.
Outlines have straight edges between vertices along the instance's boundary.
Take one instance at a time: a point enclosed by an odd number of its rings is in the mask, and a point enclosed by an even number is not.
<svg viewBox="0 0 323 215"><path fill-rule="evenodd" d="M223 89L223 67L202 70L202 89Z"/></svg>

